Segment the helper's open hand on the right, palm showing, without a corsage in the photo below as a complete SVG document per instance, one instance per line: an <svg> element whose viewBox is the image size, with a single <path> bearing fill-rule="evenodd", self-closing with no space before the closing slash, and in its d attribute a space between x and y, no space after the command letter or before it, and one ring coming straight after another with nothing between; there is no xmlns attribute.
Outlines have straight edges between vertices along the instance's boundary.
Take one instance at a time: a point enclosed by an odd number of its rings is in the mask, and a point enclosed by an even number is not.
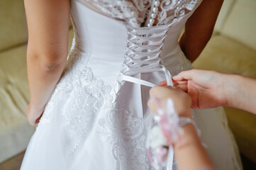
<svg viewBox="0 0 256 170"><path fill-rule="evenodd" d="M225 74L191 69L177 74L172 79L174 86L189 94L192 108L214 108L226 106L228 103ZM165 81L160 85L165 86Z"/></svg>

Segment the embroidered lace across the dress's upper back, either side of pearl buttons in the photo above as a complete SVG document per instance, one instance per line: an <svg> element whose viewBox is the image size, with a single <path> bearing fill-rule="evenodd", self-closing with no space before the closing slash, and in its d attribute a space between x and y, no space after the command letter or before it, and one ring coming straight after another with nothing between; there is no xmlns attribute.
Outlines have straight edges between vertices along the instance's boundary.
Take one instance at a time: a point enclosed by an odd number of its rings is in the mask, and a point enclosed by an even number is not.
<svg viewBox="0 0 256 170"><path fill-rule="evenodd" d="M150 8L154 0L79 0L82 3L90 2L102 13L113 18L126 20L130 26L147 26L150 18ZM157 12L157 26L170 24L175 18L184 16L200 4L202 0L161 0ZM88 4L88 6L90 6ZM151 10L152 11L152 10Z"/></svg>

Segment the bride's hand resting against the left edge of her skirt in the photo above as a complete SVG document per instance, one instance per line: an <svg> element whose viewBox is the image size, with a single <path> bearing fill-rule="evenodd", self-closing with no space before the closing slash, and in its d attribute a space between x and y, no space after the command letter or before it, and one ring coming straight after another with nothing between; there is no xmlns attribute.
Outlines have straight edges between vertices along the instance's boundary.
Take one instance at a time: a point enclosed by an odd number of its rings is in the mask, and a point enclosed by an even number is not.
<svg viewBox="0 0 256 170"><path fill-rule="evenodd" d="M32 104L28 104L27 107L27 118L30 125L36 126L39 123L40 118L43 115L45 108L36 108ZM39 115L39 116L38 116Z"/></svg>

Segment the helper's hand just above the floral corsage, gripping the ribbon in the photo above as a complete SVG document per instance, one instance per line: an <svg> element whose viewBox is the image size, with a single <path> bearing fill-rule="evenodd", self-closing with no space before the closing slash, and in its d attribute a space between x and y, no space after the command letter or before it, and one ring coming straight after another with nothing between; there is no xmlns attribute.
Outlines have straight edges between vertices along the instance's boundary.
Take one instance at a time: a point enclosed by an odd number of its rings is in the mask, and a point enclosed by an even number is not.
<svg viewBox="0 0 256 170"><path fill-rule="evenodd" d="M150 101L148 106L151 113L156 113L156 105L152 98L160 98L162 106L165 106L167 98L172 98L174 107L179 116L191 117L191 98L181 89L172 86L154 86L150 89Z"/></svg>

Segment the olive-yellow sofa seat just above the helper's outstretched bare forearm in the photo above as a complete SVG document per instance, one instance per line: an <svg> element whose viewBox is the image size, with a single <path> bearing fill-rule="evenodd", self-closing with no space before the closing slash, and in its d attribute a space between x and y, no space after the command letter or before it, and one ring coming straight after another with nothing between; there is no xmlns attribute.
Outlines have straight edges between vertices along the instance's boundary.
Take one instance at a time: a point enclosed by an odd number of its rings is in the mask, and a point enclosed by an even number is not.
<svg viewBox="0 0 256 170"><path fill-rule="evenodd" d="M256 51L231 38L217 35L211 38L193 66L256 78Z"/></svg>

